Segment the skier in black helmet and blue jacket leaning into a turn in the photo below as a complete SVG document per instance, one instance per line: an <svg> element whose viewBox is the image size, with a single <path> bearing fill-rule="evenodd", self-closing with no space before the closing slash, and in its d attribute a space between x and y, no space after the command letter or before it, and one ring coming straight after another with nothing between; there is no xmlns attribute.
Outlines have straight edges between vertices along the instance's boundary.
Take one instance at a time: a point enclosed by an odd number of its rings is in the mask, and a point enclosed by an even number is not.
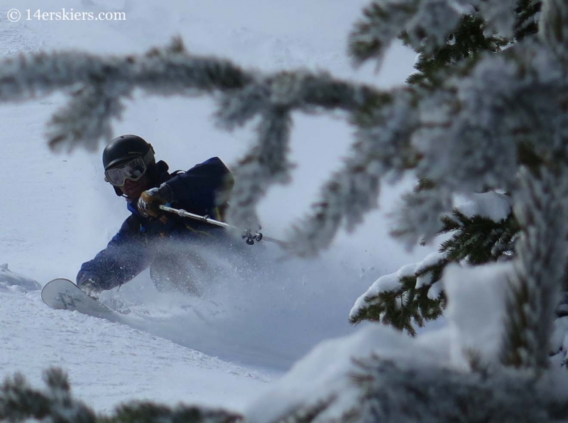
<svg viewBox="0 0 568 423"><path fill-rule="evenodd" d="M105 180L116 195L126 198L131 215L107 248L83 263L77 286L96 297L149 267L158 290L200 295L203 274L198 281L195 270L204 270L207 263L192 247L208 242L229 249L238 246L224 229L175 214L165 216L159 205L222 220L234 184L229 169L214 157L187 172L170 174L165 162L155 162L152 145L136 135L114 138L104 148L102 161Z"/></svg>

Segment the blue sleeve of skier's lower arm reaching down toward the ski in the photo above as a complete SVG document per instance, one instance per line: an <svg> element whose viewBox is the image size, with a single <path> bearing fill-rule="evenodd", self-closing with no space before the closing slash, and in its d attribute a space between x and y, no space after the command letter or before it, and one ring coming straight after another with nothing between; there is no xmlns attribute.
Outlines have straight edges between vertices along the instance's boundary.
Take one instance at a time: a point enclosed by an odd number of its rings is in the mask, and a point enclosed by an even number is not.
<svg viewBox="0 0 568 423"><path fill-rule="evenodd" d="M131 216L132 217L132 216ZM77 285L87 280L102 290L110 290L128 282L148 267L146 248L133 219L124 221L119 232L92 260L83 263L77 274Z"/></svg>

